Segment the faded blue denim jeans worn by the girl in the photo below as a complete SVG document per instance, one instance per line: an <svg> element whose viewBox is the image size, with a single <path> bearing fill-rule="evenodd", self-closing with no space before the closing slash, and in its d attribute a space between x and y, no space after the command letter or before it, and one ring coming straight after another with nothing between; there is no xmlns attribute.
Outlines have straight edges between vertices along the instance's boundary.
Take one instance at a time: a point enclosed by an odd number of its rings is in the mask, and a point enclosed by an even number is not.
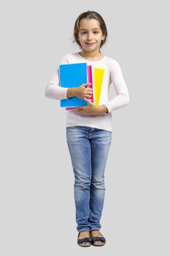
<svg viewBox="0 0 170 256"><path fill-rule="evenodd" d="M74 171L77 231L100 230L104 206L104 170L112 132L91 127L66 127Z"/></svg>

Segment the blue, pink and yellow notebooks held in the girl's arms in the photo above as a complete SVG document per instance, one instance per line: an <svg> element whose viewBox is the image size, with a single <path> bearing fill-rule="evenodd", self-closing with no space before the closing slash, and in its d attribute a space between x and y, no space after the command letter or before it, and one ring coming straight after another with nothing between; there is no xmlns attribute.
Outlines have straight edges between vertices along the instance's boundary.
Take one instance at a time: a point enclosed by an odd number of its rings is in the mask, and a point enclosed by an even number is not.
<svg viewBox="0 0 170 256"><path fill-rule="evenodd" d="M73 88L81 86L83 83L91 83L89 87L93 89L93 94L90 100L95 105L99 105L104 69L92 67L87 63L60 64L59 78L60 86L64 88ZM78 97L61 99L61 107L66 108L66 110L74 110L75 107L86 105L88 103Z"/></svg>

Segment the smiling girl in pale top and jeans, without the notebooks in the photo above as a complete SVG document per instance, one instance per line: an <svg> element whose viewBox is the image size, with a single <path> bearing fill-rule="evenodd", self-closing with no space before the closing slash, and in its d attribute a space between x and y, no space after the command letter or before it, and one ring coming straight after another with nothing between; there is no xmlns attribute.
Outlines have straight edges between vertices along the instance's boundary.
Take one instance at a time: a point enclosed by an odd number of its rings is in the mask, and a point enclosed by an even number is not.
<svg viewBox="0 0 170 256"><path fill-rule="evenodd" d="M77 88L59 86L58 69L47 84L45 95L52 99L80 97L87 106L66 111L66 139L74 172L74 201L77 222L77 243L80 246L102 246L100 219L104 206L104 169L112 140L112 111L129 103L128 89L120 64L104 56L101 46L107 40L107 27L98 12L83 12L74 24L74 42L78 53L66 54L61 64L86 62L104 69L99 105L90 101L90 83ZM117 96L109 100L109 86L113 83Z"/></svg>

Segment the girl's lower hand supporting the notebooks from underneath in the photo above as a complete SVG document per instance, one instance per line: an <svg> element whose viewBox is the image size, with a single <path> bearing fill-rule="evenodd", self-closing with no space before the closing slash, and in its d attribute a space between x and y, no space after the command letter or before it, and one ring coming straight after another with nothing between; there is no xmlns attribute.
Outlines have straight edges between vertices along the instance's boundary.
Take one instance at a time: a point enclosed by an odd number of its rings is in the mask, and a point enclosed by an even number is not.
<svg viewBox="0 0 170 256"><path fill-rule="evenodd" d="M96 106L93 102L90 101L90 99L84 99L89 105L85 107L77 107L75 112L80 113L83 116L97 116L108 113L107 107L105 105Z"/></svg>

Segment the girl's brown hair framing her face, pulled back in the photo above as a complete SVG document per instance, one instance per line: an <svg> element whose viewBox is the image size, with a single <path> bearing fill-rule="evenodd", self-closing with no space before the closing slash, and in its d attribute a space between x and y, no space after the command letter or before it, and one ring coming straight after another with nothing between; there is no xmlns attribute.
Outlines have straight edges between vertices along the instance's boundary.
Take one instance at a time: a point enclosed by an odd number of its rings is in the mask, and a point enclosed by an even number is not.
<svg viewBox="0 0 170 256"><path fill-rule="evenodd" d="M98 20L99 24L100 24L100 28L101 28L101 31L102 31L102 34L105 36L104 40L101 41L101 45L104 45L104 43L106 42L106 39L107 39L107 26L104 22L104 19L101 17L101 15L99 15L98 12L93 12L93 11L88 11L88 12L82 12L77 20L75 21L75 24L74 24L74 40L73 42L77 42L77 44L81 47L80 45L80 42L78 40L78 34L79 34L79 28L80 28L80 21L83 19L83 18L87 18L87 19L96 19Z"/></svg>

